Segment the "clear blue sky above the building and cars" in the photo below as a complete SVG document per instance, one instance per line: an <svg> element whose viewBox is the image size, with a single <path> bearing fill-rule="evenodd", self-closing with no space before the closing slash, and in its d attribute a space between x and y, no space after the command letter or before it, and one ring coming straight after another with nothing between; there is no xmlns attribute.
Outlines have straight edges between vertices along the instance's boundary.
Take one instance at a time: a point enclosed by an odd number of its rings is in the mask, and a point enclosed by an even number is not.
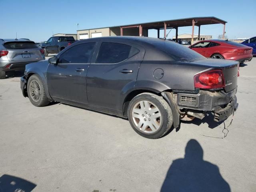
<svg viewBox="0 0 256 192"><path fill-rule="evenodd" d="M17 32L18 38L36 42L56 33L76 33L76 23L81 30L205 16L226 20L228 38L256 36L256 0L0 0L0 16L0 38L15 38ZM222 24L206 25L200 33L217 38L222 30ZM192 27L178 30L191 32ZM175 30L168 37L173 35Z"/></svg>

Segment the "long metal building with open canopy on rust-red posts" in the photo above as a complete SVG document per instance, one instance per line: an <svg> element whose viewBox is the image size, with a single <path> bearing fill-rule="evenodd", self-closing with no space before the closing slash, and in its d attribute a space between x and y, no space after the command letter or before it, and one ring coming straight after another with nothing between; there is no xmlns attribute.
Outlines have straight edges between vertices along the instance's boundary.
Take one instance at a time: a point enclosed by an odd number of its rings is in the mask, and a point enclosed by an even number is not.
<svg viewBox="0 0 256 192"><path fill-rule="evenodd" d="M165 20L157 22L130 24L124 26L112 26L105 28L93 28L85 30L77 30L78 40L86 38L94 38L101 36L148 36L148 30L155 29L158 31L158 38L160 36L160 30L164 30L164 38L166 37L166 29L175 29L176 36L174 39L178 41L178 28L184 26L192 26L191 42L194 38L200 40L200 26L209 24L223 24L223 37L225 35L226 21L216 17L193 17L176 20ZM194 34L194 27L198 26L197 37Z"/></svg>

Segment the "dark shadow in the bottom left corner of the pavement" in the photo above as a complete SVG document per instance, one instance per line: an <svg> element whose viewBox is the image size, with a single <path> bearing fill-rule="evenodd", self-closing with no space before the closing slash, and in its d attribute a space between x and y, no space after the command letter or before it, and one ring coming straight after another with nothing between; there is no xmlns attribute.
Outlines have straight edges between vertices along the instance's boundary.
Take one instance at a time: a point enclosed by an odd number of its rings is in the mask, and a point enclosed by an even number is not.
<svg viewBox="0 0 256 192"><path fill-rule="evenodd" d="M0 177L0 192L31 192L36 184L19 177L4 174Z"/></svg>

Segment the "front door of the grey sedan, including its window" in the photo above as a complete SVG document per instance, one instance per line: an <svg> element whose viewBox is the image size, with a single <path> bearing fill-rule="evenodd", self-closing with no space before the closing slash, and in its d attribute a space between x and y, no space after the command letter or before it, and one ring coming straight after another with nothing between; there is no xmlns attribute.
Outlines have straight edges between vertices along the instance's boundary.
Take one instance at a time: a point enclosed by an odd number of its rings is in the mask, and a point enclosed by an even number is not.
<svg viewBox="0 0 256 192"><path fill-rule="evenodd" d="M68 48L60 56L56 65L49 64L47 84L50 96L87 104L86 73L96 42L81 43Z"/></svg>

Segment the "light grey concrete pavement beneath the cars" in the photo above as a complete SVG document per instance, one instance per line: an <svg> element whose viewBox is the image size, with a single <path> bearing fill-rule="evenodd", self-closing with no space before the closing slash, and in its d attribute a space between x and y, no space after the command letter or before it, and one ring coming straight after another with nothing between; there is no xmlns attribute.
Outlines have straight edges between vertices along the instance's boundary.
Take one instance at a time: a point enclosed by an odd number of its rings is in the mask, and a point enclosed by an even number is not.
<svg viewBox="0 0 256 192"><path fill-rule="evenodd" d="M220 183L218 191L255 192L255 71L255 57L240 67L239 108L224 139L224 123L208 116L149 140L122 118L61 103L35 107L19 76L0 80L0 192L5 175L32 182L33 192L159 192L164 182L162 191L207 182L204 191Z"/></svg>

